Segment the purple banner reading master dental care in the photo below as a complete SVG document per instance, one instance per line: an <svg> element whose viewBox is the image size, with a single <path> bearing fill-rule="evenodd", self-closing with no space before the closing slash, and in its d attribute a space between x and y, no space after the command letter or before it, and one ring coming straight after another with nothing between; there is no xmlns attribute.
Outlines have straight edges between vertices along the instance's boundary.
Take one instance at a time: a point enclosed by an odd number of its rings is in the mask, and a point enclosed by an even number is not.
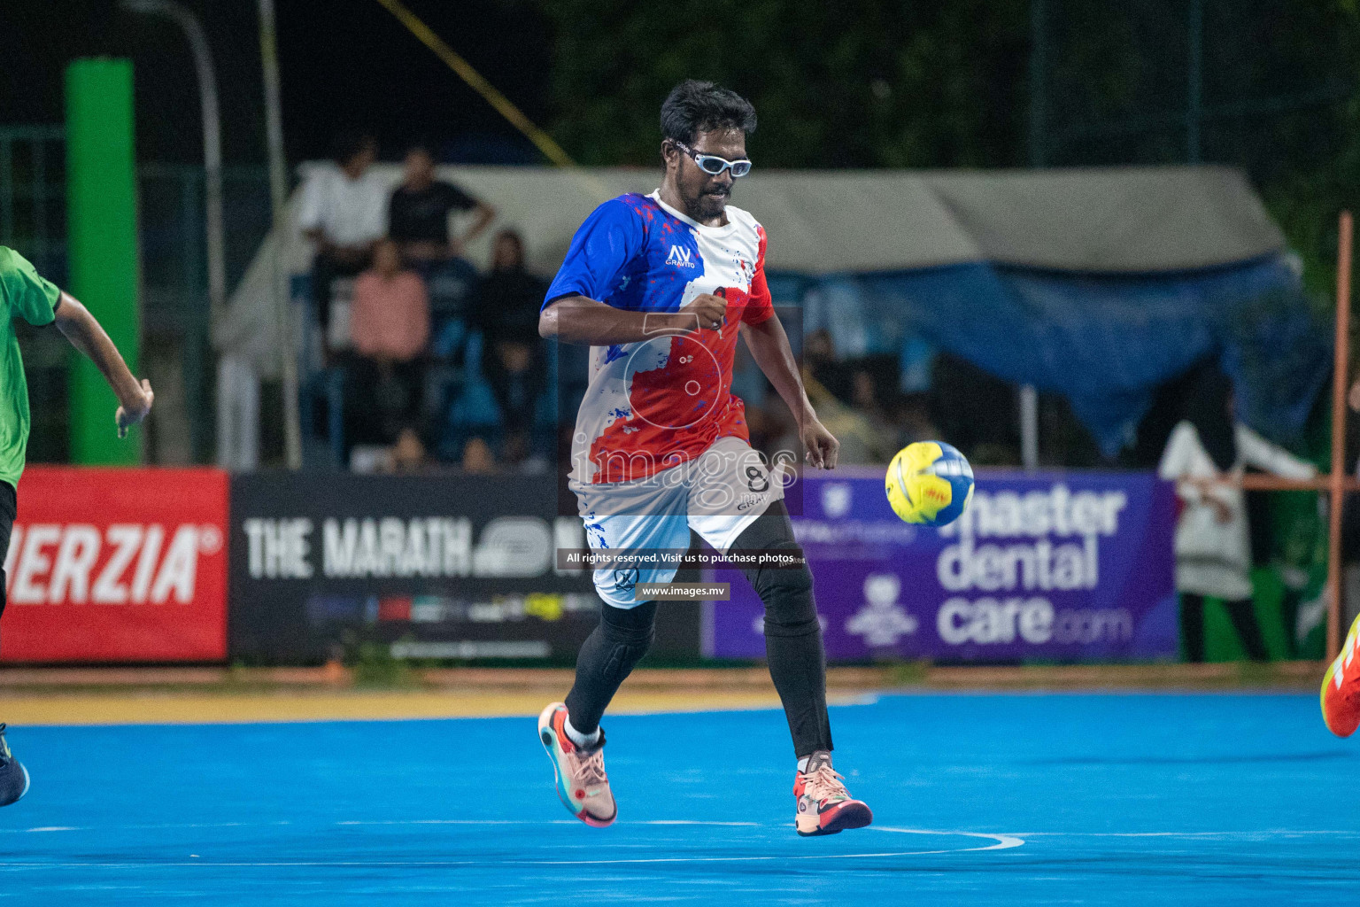
<svg viewBox="0 0 1360 907"><path fill-rule="evenodd" d="M876 472L801 481L831 661L1176 655L1174 491L1152 473L983 472L942 529L898 519ZM732 601L707 605L706 654L764 657L760 600L740 572L713 579Z"/></svg>

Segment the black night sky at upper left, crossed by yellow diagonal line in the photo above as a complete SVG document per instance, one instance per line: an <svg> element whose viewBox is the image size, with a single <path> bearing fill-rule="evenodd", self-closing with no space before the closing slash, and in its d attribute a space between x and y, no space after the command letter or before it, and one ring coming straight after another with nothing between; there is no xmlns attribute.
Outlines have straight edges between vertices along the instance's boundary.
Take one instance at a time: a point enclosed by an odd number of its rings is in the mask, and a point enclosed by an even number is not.
<svg viewBox="0 0 1360 907"><path fill-rule="evenodd" d="M215 54L228 163L262 162L264 114L254 0L182 0ZM450 46L532 120L544 117L549 56L536 7L496 0L408 0ZM382 156L412 140L486 136L502 156L536 152L480 97L374 0L276 1L284 143L290 160L324 156L336 129L371 131ZM63 71L84 56L133 61L137 155L194 163L199 90L180 26L125 12L116 0L0 4L0 122L61 122ZM486 141L477 141L486 144Z"/></svg>

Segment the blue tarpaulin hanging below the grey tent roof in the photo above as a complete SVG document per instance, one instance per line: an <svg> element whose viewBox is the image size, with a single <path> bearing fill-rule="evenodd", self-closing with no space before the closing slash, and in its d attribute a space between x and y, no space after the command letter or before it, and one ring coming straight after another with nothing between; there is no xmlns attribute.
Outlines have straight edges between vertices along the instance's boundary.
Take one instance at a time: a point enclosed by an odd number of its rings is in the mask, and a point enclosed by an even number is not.
<svg viewBox="0 0 1360 907"><path fill-rule="evenodd" d="M785 275L775 291L804 301L805 330L849 336L843 354L896 354L925 337L1000 378L1059 393L1106 454L1132 439L1160 385L1205 356L1220 356L1232 377L1239 416L1281 442L1297 437L1330 370L1331 332L1282 254L1156 275L986 262Z"/></svg>

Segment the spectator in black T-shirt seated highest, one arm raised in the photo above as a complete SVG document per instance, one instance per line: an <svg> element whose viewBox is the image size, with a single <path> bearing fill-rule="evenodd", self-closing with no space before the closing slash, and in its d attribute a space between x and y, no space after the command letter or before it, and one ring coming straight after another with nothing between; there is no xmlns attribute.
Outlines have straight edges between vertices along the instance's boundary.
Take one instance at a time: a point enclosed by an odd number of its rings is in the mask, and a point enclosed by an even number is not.
<svg viewBox="0 0 1360 907"><path fill-rule="evenodd" d="M475 211L476 219L461 237L449 235L449 212ZM461 258L462 249L496 216L495 209L477 201L452 182L435 179L434 158L426 148L407 152L407 171L392 193L388 208L388 237L401 246L401 256L418 268Z"/></svg>

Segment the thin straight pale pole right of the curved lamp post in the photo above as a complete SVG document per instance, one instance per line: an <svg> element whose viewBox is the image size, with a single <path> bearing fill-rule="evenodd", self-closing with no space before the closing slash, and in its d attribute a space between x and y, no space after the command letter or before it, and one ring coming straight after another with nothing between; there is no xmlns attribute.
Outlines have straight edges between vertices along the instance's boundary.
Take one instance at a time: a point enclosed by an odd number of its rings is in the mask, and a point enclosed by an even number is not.
<svg viewBox="0 0 1360 907"><path fill-rule="evenodd" d="M302 423L298 412L298 354L292 343L292 302L284 249L288 245L288 167L283 156L283 113L279 99L279 41L273 0L260 0L260 63L264 69L265 133L269 144L269 200L273 207L273 290L283 377L283 449L288 469L302 468Z"/></svg>

